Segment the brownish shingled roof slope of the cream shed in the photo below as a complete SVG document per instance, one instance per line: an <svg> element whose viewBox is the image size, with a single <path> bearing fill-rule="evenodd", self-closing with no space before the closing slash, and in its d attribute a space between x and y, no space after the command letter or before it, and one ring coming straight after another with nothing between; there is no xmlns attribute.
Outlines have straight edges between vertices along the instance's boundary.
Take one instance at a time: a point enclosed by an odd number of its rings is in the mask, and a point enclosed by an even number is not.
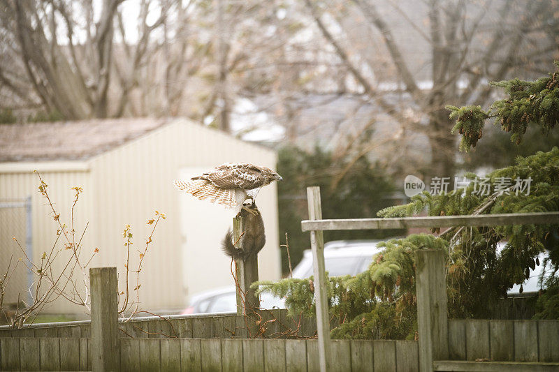
<svg viewBox="0 0 559 372"><path fill-rule="evenodd" d="M0 124L0 162L85 160L166 124L127 118Z"/></svg>

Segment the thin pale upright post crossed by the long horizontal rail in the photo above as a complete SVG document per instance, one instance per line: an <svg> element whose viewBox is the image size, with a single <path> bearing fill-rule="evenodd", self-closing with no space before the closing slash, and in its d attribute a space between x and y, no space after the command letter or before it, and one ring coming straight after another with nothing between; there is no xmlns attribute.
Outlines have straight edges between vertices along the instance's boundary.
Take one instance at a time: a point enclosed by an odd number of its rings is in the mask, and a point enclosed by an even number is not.
<svg viewBox="0 0 559 372"><path fill-rule="evenodd" d="M307 203L309 220L322 219L320 188L307 187ZM324 235L322 230L310 231L314 272L314 303L317 306L317 334L319 344L320 371L331 371L330 362L330 315L328 313L328 297L326 294L326 267L324 265Z"/></svg>

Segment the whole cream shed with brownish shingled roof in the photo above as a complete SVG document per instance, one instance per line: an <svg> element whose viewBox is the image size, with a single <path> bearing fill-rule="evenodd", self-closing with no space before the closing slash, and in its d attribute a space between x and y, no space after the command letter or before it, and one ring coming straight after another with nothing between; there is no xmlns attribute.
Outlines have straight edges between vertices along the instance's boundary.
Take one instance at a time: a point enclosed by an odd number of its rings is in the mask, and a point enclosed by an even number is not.
<svg viewBox="0 0 559 372"><path fill-rule="evenodd" d="M57 213L66 225L71 222L71 188L80 186L83 193L75 211L75 230L81 232L89 222L82 254L87 257L99 248L90 267L116 266L119 288L124 289L124 226L129 224L132 228L130 267L135 269L136 249L143 248L150 235L151 226L146 221L155 210L165 213L167 218L157 226L145 256L140 301L146 310L179 311L186 307L189 295L233 284L231 260L221 250L233 212L180 193L172 180L228 161L274 169L277 158L273 150L187 119L3 124L0 220L1 202L31 197L32 252L38 261L54 244L57 225L50 207L37 191L38 178L33 170L41 172ZM262 189L257 204L267 237L259 254L259 274L262 279L275 280L281 274L275 184ZM0 270L5 270L8 252L14 252L15 258L22 256L11 237L19 235L17 238L23 244L26 238L21 236L21 218L4 218L0 229ZM60 254L64 258L69 251L62 250ZM135 286L134 280L131 290ZM15 288L8 291L13 293ZM17 288L20 290L24 288ZM75 313L80 308L59 299L45 311Z"/></svg>

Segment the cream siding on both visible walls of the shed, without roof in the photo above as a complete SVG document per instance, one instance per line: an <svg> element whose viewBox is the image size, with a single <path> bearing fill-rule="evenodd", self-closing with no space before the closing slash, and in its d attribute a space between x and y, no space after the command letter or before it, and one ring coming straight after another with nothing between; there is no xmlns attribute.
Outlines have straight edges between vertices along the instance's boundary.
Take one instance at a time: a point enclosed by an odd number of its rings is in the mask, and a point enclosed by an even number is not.
<svg viewBox="0 0 559 372"><path fill-rule="evenodd" d="M178 119L138 140L89 159L86 162L88 167L82 172L68 172L68 162L65 162L64 171L57 172L54 168L57 163L49 162L43 163L49 166L49 171L42 174L50 186L53 202L57 203L61 221L67 225L73 200L70 189L73 186L83 188L84 193L78 203L76 230L81 231L89 221L82 245L87 252L96 247L100 250L90 266L117 266L121 289L124 289L126 258L122 238L124 226L129 224L132 227L134 244L129 267L136 270L137 250L143 251L145 239L150 235L151 226L146 225L146 221L152 218L156 209L167 215L167 219L157 226L144 260L144 269L140 274L140 300L141 308L177 310L187 305L188 295L210 286L231 285L232 280L230 261L221 253L219 246L202 247L196 255L184 246L185 241L204 232L189 232L188 229L184 232L182 225L184 227L185 217L180 215L180 198L184 195L174 188L171 181L179 177L184 168L212 168L227 161L248 161L275 168L276 156L263 147ZM41 170L41 163L36 168ZM35 260L39 260L42 252L52 244L57 230L48 206L43 205L37 192L37 186L38 179L32 172L2 172L0 168L0 198L33 197ZM261 191L258 202L263 210L267 235L266 246L259 258L261 278L277 279L280 276L280 253L275 184ZM208 214L210 210L200 207L190 211L186 218L195 216L212 223L213 218ZM221 213L227 212L222 210ZM219 239L226 227L220 230L223 231L219 232ZM190 255L196 256L196 259L189 258ZM134 294L136 278L133 273L130 275L129 288ZM66 301L58 301L45 310L73 313L76 308Z"/></svg>

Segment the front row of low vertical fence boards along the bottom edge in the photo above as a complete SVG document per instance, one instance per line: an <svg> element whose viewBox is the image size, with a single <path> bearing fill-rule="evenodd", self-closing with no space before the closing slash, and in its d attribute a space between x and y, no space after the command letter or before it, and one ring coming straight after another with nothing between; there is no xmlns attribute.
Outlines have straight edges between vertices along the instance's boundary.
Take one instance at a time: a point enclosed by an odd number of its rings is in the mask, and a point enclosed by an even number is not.
<svg viewBox="0 0 559 372"><path fill-rule="evenodd" d="M89 338L0 338L2 371L91 371ZM120 371L319 371L317 340L120 338ZM335 371L418 371L417 341L339 340Z"/></svg>

